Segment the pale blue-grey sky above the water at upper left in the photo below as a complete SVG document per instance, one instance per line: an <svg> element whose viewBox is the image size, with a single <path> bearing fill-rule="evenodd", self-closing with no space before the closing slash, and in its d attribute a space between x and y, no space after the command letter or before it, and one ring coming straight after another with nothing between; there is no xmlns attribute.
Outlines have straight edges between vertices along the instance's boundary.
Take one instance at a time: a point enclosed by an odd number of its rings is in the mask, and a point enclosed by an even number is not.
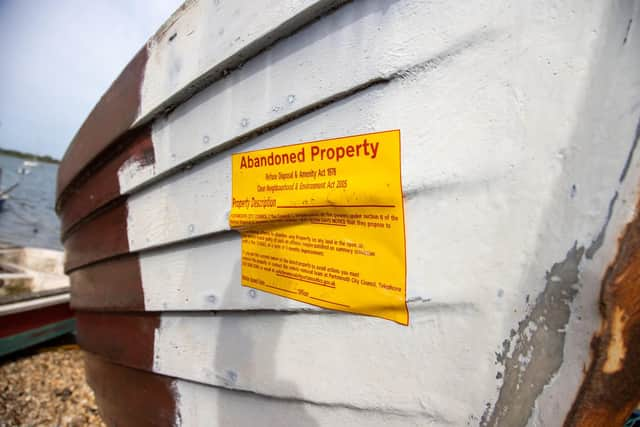
<svg viewBox="0 0 640 427"><path fill-rule="evenodd" d="M60 159L182 0L0 0L0 147Z"/></svg>

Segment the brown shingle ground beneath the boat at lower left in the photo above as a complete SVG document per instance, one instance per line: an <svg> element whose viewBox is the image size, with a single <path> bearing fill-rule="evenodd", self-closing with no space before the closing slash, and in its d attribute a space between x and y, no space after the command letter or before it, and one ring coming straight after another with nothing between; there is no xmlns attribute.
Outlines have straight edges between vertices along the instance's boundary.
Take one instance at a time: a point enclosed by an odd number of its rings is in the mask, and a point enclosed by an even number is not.
<svg viewBox="0 0 640 427"><path fill-rule="evenodd" d="M104 426L77 346L0 363L0 427Z"/></svg>

